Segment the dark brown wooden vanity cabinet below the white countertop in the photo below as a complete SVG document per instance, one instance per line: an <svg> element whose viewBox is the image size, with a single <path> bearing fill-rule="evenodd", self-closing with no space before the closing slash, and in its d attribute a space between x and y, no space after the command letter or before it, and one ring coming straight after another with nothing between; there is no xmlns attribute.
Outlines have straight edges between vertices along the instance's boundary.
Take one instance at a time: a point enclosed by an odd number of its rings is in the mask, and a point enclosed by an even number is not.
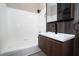
<svg viewBox="0 0 79 59"><path fill-rule="evenodd" d="M48 56L73 55L73 39L61 42L42 35L39 35L38 38L39 48Z"/></svg>

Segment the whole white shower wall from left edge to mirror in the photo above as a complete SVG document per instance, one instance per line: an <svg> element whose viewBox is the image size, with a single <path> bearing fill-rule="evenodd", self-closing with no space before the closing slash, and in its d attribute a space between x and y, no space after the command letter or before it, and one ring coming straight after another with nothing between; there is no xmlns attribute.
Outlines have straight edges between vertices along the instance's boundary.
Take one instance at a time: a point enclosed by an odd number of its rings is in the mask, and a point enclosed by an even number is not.
<svg viewBox="0 0 79 59"><path fill-rule="evenodd" d="M0 49L9 43L38 39L46 31L45 9L40 14L0 7ZM30 42L29 42L30 43Z"/></svg>

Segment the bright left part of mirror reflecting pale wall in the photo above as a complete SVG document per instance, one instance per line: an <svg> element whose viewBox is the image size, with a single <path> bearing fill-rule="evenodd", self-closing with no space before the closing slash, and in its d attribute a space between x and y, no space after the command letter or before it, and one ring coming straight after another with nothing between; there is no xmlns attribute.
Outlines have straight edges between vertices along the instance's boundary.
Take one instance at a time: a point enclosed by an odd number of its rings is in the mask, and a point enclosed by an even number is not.
<svg viewBox="0 0 79 59"><path fill-rule="evenodd" d="M47 3L47 22L57 21L57 3Z"/></svg>

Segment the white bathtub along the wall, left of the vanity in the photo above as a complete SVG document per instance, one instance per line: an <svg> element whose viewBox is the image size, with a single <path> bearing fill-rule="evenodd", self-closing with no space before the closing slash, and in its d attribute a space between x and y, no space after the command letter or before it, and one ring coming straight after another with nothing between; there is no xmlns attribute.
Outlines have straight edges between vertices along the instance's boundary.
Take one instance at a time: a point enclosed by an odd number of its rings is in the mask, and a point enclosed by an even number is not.
<svg viewBox="0 0 79 59"><path fill-rule="evenodd" d="M8 41L1 49L1 56L28 56L39 52L38 40Z"/></svg>

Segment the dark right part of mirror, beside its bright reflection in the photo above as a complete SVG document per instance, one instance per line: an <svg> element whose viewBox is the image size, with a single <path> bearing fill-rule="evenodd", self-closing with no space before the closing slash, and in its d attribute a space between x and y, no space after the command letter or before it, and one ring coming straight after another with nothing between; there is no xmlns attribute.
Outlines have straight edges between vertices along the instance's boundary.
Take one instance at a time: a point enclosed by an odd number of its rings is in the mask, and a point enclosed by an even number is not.
<svg viewBox="0 0 79 59"><path fill-rule="evenodd" d="M57 4L57 20L74 18L73 3L58 3Z"/></svg>

